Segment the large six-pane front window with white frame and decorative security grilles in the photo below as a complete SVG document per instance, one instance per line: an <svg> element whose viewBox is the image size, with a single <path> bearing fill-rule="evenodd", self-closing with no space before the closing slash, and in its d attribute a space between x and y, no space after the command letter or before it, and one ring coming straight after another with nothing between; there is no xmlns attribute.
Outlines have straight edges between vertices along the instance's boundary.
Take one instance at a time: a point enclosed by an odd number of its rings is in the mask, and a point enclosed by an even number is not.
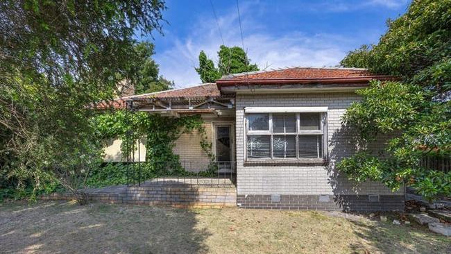
<svg viewBox="0 0 451 254"><path fill-rule="evenodd" d="M246 114L247 158L322 159L325 112Z"/></svg>

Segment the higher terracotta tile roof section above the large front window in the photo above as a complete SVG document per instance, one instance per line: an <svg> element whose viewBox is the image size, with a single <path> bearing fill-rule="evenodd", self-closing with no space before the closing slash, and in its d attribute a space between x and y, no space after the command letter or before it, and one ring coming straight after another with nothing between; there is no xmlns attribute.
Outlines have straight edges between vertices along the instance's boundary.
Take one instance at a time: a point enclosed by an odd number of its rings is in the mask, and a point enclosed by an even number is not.
<svg viewBox="0 0 451 254"><path fill-rule="evenodd" d="M364 83L371 79L387 79L392 76L371 74L367 69L335 67L291 67L271 71L253 71L223 76L216 83L221 85L239 84L284 84L284 83Z"/></svg>

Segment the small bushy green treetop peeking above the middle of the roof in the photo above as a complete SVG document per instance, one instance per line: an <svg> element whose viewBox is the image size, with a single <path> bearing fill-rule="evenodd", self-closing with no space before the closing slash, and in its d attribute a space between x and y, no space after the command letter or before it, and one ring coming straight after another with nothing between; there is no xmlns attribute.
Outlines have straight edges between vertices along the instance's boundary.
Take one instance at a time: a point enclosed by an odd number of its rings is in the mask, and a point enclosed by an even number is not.
<svg viewBox="0 0 451 254"><path fill-rule="evenodd" d="M257 65L250 64L246 52L239 46L228 47L221 45L218 51L218 67L214 67L212 60L207 58L204 51L199 53L199 67L196 71L203 83L215 82L223 75L237 74L248 71L258 71Z"/></svg>

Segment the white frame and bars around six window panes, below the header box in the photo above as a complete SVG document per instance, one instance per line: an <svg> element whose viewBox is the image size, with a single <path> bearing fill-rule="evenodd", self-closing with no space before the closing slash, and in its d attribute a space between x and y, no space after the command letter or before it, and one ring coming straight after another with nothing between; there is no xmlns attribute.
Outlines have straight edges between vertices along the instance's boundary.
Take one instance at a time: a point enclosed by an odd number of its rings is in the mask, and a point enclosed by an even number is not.
<svg viewBox="0 0 451 254"><path fill-rule="evenodd" d="M319 130L300 130L300 115L303 113L317 113L320 115L320 124ZM253 114L268 114L269 115L269 130L249 130L249 121L248 115ZM273 115L280 114L294 114L296 116L296 131L294 133L273 133ZM244 114L244 153L245 160L250 162L324 162L327 160L327 111L304 111L301 112L245 112ZM269 154L270 158L248 158L248 135L269 135L270 136L270 144L269 144ZM295 135L296 136L296 158L280 158L274 157L273 155L273 136L274 135ZM306 158L299 157L299 135L322 135L321 138L321 158ZM319 146L317 146L319 147ZM318 151L319 152L319 151Z"/></svg>

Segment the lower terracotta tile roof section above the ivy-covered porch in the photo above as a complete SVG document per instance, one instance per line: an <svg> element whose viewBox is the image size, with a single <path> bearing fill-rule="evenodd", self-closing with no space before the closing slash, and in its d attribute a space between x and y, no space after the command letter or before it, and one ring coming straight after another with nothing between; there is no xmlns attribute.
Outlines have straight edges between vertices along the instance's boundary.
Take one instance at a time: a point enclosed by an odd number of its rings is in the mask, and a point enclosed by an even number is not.
<svg viewBox="0 0 451 254"><path fill-rule="evenodd" d="M101 102L96 105L98 109L106 108L125 108L126 101L129 99L201 99L206 97L219 97L219 92L216 83L206 83L202 85L196 85L194 87L166 90L161 92L152 92L149 94L137 94L134 96L126 96L114 99L110 102Z"/></svg>

